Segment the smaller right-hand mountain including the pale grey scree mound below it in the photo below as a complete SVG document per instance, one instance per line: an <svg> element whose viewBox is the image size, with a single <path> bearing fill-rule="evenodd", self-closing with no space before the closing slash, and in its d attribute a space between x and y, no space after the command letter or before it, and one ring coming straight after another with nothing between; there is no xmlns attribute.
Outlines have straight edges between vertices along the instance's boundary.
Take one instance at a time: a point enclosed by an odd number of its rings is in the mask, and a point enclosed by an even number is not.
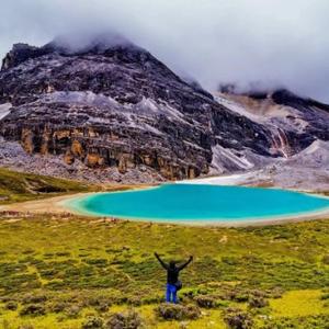
<svg viewBox="0 0 329 329"><path fill-rule="evenodd" d="M285 89L249 93L226 89L215 98L231 111L266 126L273 133L272 148L282 154L274 161L250 168L238 183L329 190L329 105Z"/></svg>

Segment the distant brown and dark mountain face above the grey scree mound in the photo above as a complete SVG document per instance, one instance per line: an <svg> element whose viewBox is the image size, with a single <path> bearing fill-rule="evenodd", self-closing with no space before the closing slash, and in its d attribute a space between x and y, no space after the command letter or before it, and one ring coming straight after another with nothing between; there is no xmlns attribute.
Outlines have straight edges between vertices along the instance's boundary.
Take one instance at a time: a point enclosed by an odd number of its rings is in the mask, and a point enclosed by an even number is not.
<svg viewBox="0 0 329 329"><path fill-rule="evenodd" d="M288 90L215 95L218 103L265 126L275 150L290 158L316 140L329 141L329 105L298 97Z"/></svg>

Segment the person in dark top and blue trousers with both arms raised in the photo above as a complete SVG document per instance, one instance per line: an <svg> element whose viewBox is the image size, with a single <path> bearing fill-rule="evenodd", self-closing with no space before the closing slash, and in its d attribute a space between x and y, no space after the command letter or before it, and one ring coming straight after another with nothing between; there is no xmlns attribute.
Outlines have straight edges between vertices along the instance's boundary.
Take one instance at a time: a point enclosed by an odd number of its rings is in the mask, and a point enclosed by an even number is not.
<svg viewBox="0 0 329 329"><path fill-rule="evenodd" d="M182 287L182 283L179 281L180 271L191 263L193 256L191 256L190 259L181 265L177 265L174 261L170 261L169 264L164 263L157 252L155 252L155 257L167 271L166 302L177 304L177 292Z"/></svg>

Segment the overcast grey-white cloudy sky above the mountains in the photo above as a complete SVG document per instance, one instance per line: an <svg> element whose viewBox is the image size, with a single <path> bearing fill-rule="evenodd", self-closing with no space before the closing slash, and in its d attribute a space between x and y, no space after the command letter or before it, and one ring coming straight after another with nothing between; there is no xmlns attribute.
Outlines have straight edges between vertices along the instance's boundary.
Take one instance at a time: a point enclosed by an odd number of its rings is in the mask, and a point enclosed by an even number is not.
<svg viewBox="0 0 329 329"><path fill-rule="evenodd" d="M329 102L328 15L329 0L2 0L0 55L115 29L208 90L260 82Z"/></svg>

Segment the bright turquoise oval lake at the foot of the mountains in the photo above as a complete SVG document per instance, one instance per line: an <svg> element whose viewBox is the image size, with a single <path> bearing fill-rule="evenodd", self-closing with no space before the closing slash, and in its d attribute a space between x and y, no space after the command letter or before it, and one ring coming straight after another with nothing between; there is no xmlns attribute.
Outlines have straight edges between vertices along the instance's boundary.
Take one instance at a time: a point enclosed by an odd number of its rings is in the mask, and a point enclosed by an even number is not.
<svg viewBox="0 0 329 329"><path fill-rule="evenodd" d="M69 202L80 213L155 222L264 220L329 211L329 198L274 189L163 184Z"/></svg>

